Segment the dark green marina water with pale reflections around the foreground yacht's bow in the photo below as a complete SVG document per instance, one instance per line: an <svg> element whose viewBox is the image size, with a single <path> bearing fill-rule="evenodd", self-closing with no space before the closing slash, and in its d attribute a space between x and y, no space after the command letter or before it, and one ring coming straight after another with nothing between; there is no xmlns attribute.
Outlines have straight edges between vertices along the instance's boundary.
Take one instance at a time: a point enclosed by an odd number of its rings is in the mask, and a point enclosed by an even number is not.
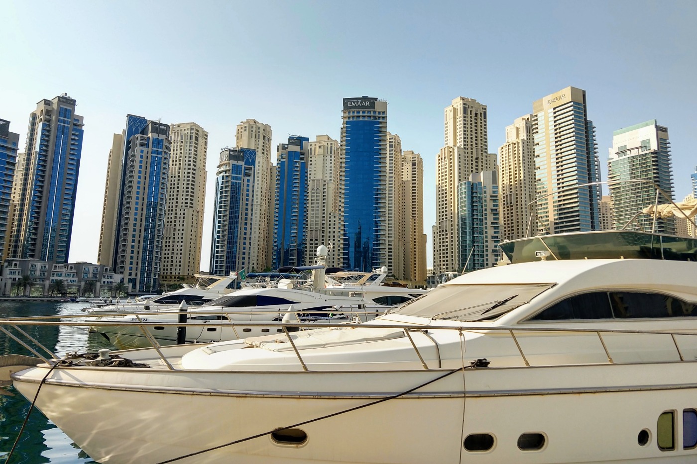
<svg viewBox="0 0 697 464"><path fill-rule="evenodd" d="M57 302L0 302L0 317L26 317L82 314L80 309L86 303ZM112 348L99 334L89 334L87 327L23 326L23 330L46 348L56 354L68 351L96 351L100 348ZM0 333L0 355L18 353L33 356L26 348ZM10 387L15 396L0 395L0 461L6 458L20 431L29 401ZM31 412L29 422L24 428L22 438L8 464L39 463L92 463L87 454L75 445L65 433L36 408Z"/></svg>

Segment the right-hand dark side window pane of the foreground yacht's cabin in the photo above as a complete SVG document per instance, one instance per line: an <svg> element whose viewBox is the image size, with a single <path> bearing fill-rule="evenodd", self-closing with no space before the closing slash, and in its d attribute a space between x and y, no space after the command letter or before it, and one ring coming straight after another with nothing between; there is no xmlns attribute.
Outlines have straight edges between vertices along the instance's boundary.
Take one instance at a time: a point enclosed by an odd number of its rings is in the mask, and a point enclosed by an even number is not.
<svg viewBox="0 0 697 464"><path fill-rule="evenodd" d="M683 318L697 316L695 305L659 293L610 292L616 318Z"/></svg>

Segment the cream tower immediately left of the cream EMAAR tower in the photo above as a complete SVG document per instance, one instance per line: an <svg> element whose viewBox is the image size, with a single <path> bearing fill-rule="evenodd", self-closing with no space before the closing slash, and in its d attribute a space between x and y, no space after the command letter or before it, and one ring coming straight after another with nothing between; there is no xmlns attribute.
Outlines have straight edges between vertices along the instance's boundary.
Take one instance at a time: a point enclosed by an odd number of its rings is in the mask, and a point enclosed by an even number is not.
<svg viewBox="0 0 697 464"><path fill-rule="evenodd" d="M535 146L532 115L517 118L506 127L506 143L498 148L498 192L500 195L501 239L526 237L530 222L535 224Z"/></svg>

